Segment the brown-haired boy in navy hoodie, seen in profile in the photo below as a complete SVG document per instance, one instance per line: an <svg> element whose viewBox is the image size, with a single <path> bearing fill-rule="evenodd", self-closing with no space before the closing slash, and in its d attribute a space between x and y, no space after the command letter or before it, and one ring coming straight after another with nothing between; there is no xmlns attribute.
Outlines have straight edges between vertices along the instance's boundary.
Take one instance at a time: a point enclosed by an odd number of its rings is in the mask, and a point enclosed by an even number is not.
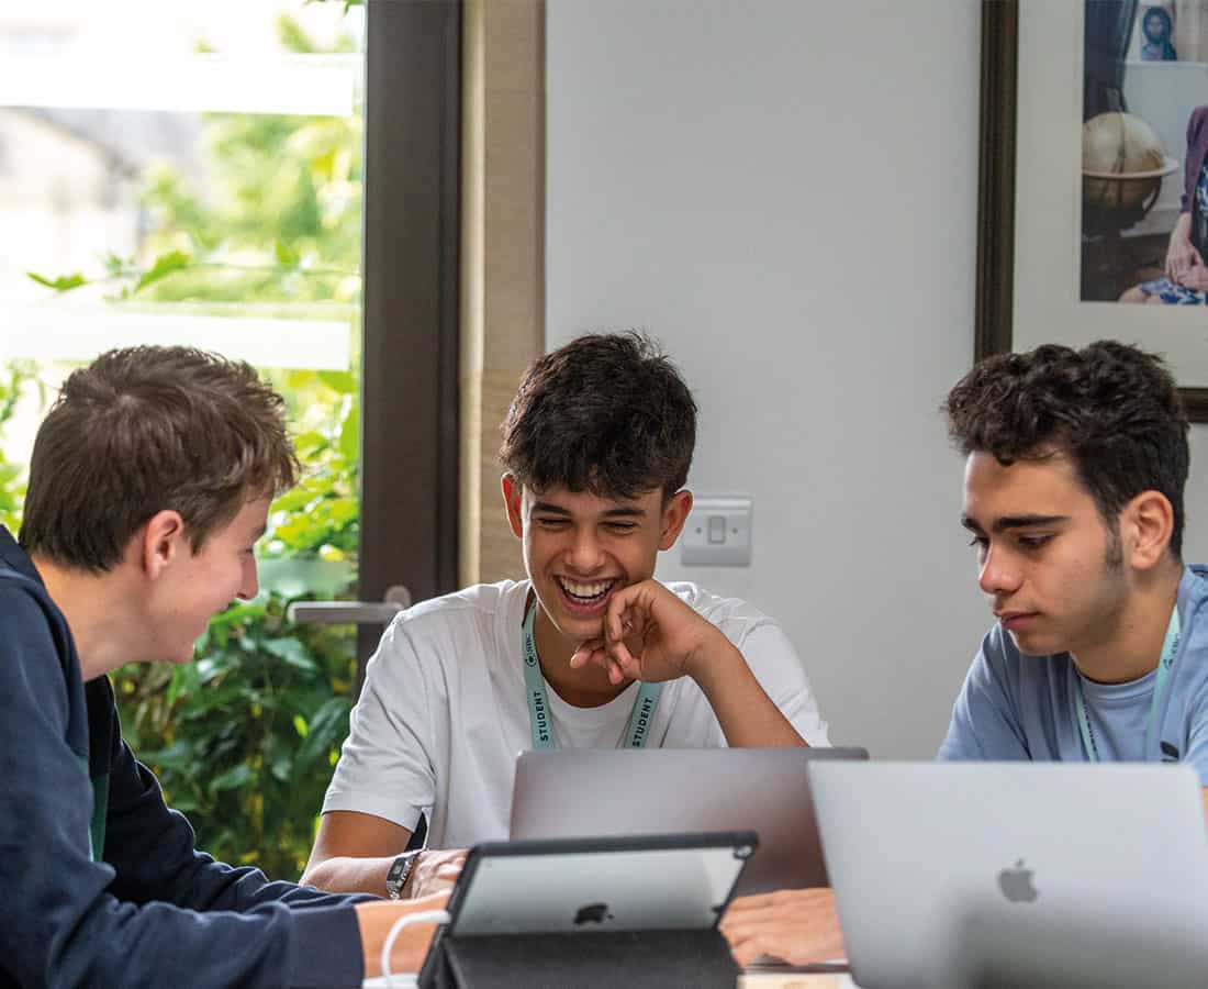
<svg viewBox="0 0 1208 989"><path fill-rule="evenodd" d="M135 347L74 371L37 432L19 543L0 526L0 987L358 985L399 915L443 902L215 862L122 740L105 675L187 663L256 594L297 472L283 407L246 364Z"/></svg>

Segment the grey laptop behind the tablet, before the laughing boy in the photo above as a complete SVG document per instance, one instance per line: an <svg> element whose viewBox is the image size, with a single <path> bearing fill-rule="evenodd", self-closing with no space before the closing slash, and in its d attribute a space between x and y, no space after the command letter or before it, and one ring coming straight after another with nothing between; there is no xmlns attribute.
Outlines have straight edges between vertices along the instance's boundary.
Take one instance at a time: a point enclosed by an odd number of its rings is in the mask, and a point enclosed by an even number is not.
<svg viewBox="0 0 1208 989"><path fill-rule="evenodd" d="M522 752L512 840L754 831L734 890L825 886L806 768L863 748L558 748Z"/></svg>

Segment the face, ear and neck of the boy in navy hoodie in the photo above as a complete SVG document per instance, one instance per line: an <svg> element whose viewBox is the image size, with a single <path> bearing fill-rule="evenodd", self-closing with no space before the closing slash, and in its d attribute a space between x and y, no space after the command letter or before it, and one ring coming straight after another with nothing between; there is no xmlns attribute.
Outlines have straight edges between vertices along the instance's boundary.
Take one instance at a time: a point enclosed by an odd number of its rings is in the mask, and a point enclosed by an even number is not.
<svg viewBox="0 0 1208 989"><path fill-rule="evenodd" d="M182 526L155 539L146 659L187 663L193 658L193 643L215 614L236 598L256 596L260 585L254 548L265 533L268 505L268 498L245 502L196 554Z"/></svg>

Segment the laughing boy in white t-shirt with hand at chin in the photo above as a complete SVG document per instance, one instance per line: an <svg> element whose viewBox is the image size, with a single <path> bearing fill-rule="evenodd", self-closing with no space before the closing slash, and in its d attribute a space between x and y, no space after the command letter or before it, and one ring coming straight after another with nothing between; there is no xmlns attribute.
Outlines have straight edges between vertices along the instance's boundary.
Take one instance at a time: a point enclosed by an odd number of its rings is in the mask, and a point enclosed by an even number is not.
<svg viewBox="0 0 1208 989"><path fill-rule="evenodd" d="M652 579L692 507L696 404L650 341L582 336L538 359L503 433L529 579L387 629L307 866L323 889L406 896L452 874L457 854L403 852L422 815L434 849L506 838L524 748L827 745L772 619Z"/></svg>

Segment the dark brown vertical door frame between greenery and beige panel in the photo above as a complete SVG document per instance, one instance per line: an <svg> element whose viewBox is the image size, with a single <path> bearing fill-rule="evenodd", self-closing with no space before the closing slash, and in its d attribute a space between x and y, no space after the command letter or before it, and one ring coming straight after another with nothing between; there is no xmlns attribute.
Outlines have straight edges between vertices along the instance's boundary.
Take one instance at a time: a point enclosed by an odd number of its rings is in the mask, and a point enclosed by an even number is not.
<svg viewBox="0 0 1208 989"><path fill-rule="evenodd" d="M461 4L366 0L359 596L457 589ZM358 632L358 692L381 629Z"/></svg>

